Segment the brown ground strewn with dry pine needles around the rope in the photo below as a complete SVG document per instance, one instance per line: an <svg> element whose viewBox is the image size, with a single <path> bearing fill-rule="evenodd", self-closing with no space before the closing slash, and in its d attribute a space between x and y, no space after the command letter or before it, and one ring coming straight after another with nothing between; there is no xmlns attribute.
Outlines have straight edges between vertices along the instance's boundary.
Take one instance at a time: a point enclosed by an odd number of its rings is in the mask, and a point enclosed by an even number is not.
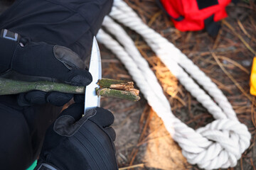
<svg viewBox="0 0 256 170"><path fill-rule="evenodd" d="M126 2L148 26L174 43L198 65L228 97L238 119L247 125L252 135L249 149L242 154L238 165L230 169L255 169L255 96L250 95L250 69L256 55L253 52L256 49L255 2L241 1L236 6L230 4L227 7L229 16L223 21L216 37L210 37L204 30L186 33L176 30L154 0ZM132 30L126 30L158 77L174 115L194 129L213 121L206 108L178 83L142 38ZM102 45L100 49L103 77L132 80L117 57ZM211 52L220 60L219 63ZM103 98L102 106L110 109L115 116L115 145L120 168L199 169L198 166L186 162L181 148L171 139L161 119L151 110L143 96L138 102ZM136 168L129 168L132 165Z"/></svg>

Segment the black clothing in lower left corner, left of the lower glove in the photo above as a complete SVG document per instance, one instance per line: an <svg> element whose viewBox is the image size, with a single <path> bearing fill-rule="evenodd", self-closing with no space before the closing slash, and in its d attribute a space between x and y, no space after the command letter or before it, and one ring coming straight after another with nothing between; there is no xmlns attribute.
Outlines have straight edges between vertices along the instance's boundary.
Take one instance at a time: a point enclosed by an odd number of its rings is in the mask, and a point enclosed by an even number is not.
<svg viewBox="0 0 256 170"><path fill-rule="evenodd" d="M54 106L63 102L55 100L55 93L49 103L32 101L30 106L19 106L18 95L0 96L0 169L26 169L38 158L46 130L62 110Z"/></svg>

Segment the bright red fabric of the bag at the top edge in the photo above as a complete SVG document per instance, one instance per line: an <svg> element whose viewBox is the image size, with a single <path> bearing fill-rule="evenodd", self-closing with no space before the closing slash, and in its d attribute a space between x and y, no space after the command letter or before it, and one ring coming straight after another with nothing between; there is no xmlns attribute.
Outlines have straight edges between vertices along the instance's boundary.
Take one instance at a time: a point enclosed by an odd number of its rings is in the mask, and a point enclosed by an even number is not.
<svg viewBox="0 0 256 170"><path fill-rule="evenodd" d="M215 22L227 17L225 6L230 2L231 0L218 0L217 5L199 9L196 0L161 0L166 12L173 17L171 21L174 26L181 31L202 30L205 27L204 20L213 14ZM183 20L175 21L180 16L183 16Z"/></svg>

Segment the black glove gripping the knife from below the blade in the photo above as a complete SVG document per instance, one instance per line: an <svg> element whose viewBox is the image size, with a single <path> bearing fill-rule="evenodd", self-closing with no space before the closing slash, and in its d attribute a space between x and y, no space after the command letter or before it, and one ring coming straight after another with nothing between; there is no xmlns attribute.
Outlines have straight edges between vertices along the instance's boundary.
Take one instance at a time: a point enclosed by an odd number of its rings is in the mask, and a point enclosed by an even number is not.
<svg viewBox="0 0 256 170"><path fill-rule="evenodd" d="M82 117L83 103L67 108L46 132L36 169L115 170L114 116L103 108Z"/></svg>

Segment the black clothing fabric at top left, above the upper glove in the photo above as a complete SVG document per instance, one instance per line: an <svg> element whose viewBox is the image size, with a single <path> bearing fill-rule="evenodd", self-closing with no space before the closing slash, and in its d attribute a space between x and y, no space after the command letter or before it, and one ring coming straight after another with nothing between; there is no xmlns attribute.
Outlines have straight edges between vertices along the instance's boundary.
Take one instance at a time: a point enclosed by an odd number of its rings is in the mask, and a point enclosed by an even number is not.
<svg viewBox="0 0 256 170"><path fill-rule="evenodd" d="M110 12L113 0L16 0L0 16L0 29L34 42L69 47L85 59L92 37Z"/></svg>

